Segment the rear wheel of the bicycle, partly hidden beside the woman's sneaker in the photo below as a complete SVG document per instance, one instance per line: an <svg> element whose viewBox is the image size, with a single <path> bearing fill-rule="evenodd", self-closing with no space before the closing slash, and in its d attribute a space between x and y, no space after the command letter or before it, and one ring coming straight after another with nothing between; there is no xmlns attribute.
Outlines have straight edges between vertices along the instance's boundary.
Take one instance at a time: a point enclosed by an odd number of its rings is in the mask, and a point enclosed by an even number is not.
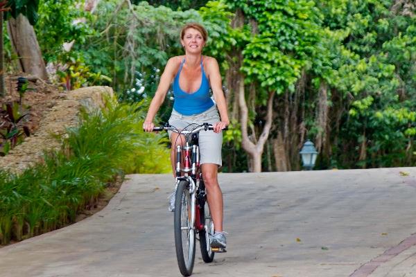
<svg viewBox="0 0 416 277"><path fill-rule="evenodd" d="M204 230L199 232L200 236L200 249L201 256L204 262L212 262L214 260L214 252L211 251L209 246L209 236L214 234L214 222L209 213L208 202L205 201L205 205L200 209L201 222L204 222Z"/></svg>

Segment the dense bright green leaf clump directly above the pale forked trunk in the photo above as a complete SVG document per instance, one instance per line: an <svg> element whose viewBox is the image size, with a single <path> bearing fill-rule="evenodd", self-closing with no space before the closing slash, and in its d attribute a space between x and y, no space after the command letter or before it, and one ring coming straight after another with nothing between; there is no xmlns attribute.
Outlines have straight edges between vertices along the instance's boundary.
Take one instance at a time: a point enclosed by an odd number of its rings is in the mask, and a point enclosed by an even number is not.
<svg viewBox="0 0 416 277"><path fill-rule="evenodd" d="M313 1L234 3L250 18L253 38L243 51L246 82L283 93L294 84L320 41L320 13Z"/></svg>

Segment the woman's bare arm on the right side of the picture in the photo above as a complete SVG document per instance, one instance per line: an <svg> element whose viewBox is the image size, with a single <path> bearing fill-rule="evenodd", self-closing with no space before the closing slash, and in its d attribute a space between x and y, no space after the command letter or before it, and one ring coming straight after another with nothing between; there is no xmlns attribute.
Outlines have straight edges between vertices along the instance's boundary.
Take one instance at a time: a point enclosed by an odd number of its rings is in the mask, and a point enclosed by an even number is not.
<svg viewBox="0 0 416 277"><path fill-rule="evenodd" d="M214 57L209 57L206 64L211 89L214 93L214 98L218 107L218 111L220 112L221 121L214 124L214 132L218 133L223 128L229 125L227 102L225 101L224 97L223 82L221 80L220 67L218 66L218 62Z"/></svg>

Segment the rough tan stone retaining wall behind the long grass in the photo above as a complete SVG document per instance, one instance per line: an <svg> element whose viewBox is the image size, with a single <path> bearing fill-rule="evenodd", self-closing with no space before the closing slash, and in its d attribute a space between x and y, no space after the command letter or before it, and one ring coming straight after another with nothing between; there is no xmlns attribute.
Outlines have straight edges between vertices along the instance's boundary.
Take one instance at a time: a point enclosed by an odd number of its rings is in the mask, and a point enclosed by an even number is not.
<svg viewBox="0 0 416 277"><path fill-rule="evenodd" d="M39 91L37 93L41 94ZM111 87L85 87L74 91L43 94L42 97L31 98L31 106L43 107L42 110L37 109L35 116L28 118L28 122L36 122L33 124L35 132L10 150L5 157L0 157L0 168L19 173L33 163L42 161L44 151L59 149L61 143L57 138L62 136L68 127L78 124L81 107L90 110L103 107L103 98L111 97L113 91Z"/></svg>

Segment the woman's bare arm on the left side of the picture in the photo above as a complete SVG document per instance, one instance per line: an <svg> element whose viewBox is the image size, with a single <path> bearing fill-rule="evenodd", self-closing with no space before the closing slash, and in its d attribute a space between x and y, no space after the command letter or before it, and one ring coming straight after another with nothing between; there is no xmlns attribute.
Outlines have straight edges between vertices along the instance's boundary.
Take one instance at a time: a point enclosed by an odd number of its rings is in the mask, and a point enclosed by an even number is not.
<svg viewBox="0 0 416 277"><path fill-rule="evenodd" d="M155 97L153 97L152 102L150 102L148 114L143 123L143 129L146 132L152 132L153 127L155 127L153 124L153 119L155 118L157 111L159 111L159 108L162 105L164 98L166 97L166 93L171 86L172 79L175 77L176 69L177 57L171 57L165 66L162 76L160 76L160 81L159 85L157 86Z"/></svg>

